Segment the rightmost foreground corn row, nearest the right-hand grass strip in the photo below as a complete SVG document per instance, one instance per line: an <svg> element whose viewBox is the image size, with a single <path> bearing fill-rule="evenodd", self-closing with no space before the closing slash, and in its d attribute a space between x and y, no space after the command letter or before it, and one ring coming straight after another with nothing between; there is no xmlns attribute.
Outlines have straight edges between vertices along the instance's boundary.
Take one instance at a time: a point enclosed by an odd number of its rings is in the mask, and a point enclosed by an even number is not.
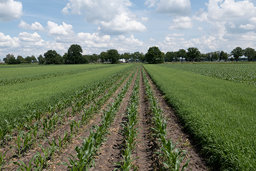
<svg viewBox="0 0 256 171"><path fill-rule="evenodd" d="M179 171L180 166L182 164L182 160L186 156L186 150L180 150L180 148L176 148L178 144L173 143L172 139L167 140L167 123L166 118L164 116L164 112L162 111L161 107L159 106L159 102L155 97L150 83L147 79L146 73L143 70L143 80L146 88L146 95L150 104L150 109L152 111L152 125L154 126L151 128L153 130L153 135L157 138L158 143L160 143L160 151L157 151L157 155L159 156L159 160L162 161L164 164L164 168L167 170L172 171ZM176 149L175 149L176 148ZM181 170L185 170L187 165L189 164L189 160L181 167Z"/></svg>

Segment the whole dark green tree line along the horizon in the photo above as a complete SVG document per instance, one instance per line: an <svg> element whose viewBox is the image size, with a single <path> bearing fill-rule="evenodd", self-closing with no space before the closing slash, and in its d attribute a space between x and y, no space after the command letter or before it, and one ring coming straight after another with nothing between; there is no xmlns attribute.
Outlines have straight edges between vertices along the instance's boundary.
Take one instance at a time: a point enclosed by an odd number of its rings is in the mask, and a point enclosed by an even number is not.
<svg viewBox="0 0 256 171"><path fill-rule="evenodd" d="M48 50L44 55L39 55L36 59L35 56L27 56L23 58L18 56L15 59L14 55L6 55L3 60L8 64L20 64L39 62L39 64L85 64L89 62L102 62L110 61L111 63L119 63L120 59L124 59L126 62L134 61L147 61L148 63L163 63L172 61L187 61L187 62L200 62L200 61L227 61L230 58L231 61L236 60L242 56L245 56L248 61L256 59L256 51L253 48L247 47L242 49L241 47L234 48L230 54L227 52L216 51L207 54L201 53L197 47L189 47L185 49L179 49L177 52L167 52L164 54L156 47L149 47L148 52L144 55L140 52L119 54L116 49L109 49L107 52L101 52L99 55L82 55L82 47L77 44L73 44L67 50L63 56L58 54L55 50Z"/></svg>

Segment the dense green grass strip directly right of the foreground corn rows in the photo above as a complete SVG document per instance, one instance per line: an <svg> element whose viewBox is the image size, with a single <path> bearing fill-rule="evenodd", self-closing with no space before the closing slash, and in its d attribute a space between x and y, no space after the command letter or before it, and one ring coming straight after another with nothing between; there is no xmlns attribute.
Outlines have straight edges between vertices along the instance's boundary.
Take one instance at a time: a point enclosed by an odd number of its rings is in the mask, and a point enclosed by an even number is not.
<svg viewBox="0 0 256 171"><path fill-rule="evenodd" d="M143 66L164 93L164 98L176 110L186 130L193 135L200 151L207 156L212 166L220 170L255 168L254 85L238 83L239 78L237 82L231 82L204 76L203 73L207 73L204 70L199 70L203 75L190 73L192 70L194 72L207 66L203 64ZM248 65L251 66L255 64ZM227 67L230 70L228 73L233 74L235 78L243 65L219 64L207 67L216 73L219 67ZM253 70L250 69L248 72L251 71ZM255 72L252 75L255 75Z"/></svg>

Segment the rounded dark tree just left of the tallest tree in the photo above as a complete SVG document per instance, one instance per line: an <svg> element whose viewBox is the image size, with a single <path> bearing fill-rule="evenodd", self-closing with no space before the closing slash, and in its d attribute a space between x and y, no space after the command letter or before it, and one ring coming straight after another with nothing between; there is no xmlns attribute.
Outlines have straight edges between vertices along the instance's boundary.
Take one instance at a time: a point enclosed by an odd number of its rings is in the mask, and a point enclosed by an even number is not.
<svg viewBox="0 0 256 171"><path fill-rule="evenodd" d="M45 64L62 64L63 57L55 50L48 50L44 53Z"/></svg>

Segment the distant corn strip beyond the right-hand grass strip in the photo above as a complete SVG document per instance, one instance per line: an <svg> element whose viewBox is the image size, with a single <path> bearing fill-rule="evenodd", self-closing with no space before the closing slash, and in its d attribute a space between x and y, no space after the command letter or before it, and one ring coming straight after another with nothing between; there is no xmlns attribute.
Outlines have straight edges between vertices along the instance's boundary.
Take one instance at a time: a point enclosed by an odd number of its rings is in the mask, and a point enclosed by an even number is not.
<svg viewBox="0 0 256 171"><path fill-rule="evenodd" d="M256 85L255 64L161 64L160 66Z"/></svg>

